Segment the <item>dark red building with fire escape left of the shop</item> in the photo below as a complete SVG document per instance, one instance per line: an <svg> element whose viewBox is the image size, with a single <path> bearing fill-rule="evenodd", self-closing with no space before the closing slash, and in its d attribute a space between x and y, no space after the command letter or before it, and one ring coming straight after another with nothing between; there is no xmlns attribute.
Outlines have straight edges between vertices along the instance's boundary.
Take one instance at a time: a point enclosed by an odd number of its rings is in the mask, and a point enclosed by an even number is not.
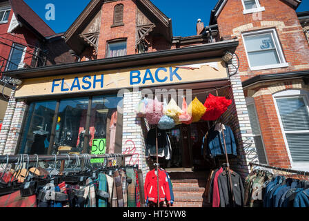
<svg viewBox="0 0 309 221"><path fill-rule="evenodd" d="M0 1L0 123L3 122L12 82L3 72L74 61L61 34L56 34L22 0ZM7 116L8 117L8 116ZM6 128L6 126L3 126Z"/></svg>

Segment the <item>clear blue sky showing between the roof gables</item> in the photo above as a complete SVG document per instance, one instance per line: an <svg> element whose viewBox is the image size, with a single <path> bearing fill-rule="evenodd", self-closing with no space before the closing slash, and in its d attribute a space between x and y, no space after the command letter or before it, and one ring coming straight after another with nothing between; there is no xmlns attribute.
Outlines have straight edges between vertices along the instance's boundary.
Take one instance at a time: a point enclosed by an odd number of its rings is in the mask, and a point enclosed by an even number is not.
<svg viewBox="0 0 309 221"><path fill-rule="evenodd" d="M28 6L37 12L54 32L65 32L79 16L90 0L24 0ZM202 19L208 25L210 11L217 0L151 0L167 17L172 19L174 36L196 35L197 19ZM46 20L46 4L55 6L55 20ZM303 0L297 12L308 11L309 0Z"/></svg>

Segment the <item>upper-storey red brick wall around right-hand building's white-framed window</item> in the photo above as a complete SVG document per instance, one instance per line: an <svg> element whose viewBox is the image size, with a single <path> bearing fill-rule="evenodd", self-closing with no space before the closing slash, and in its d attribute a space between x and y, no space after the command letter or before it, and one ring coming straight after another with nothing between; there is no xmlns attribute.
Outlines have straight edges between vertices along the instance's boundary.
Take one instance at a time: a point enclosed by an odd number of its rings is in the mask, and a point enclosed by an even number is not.
<svg viewBox="0 0 309 221"><path fill-rule="evenodd" d="M240 59L239 73L241 74L241 79L246 80L255 75L270 73L309 70L309 45L305 35L303 35L303 30L295 10L279 0L260 0L260 3L265 8L265 11L261 12L261 19L255 20L254 17L257 16L252 13L243 15L241 0L228 0L217 19L219 32L223 39L233 37L239 39L239 47L236 53ZM268 21L275 22L270 23ZM241 28L241 31L276 28L283 54L286 62L289 63L289 67L251 71L243 46L243 39L240 35L241 32L235 32L234 30L244 25L248 25L248 27Z"/></svg>

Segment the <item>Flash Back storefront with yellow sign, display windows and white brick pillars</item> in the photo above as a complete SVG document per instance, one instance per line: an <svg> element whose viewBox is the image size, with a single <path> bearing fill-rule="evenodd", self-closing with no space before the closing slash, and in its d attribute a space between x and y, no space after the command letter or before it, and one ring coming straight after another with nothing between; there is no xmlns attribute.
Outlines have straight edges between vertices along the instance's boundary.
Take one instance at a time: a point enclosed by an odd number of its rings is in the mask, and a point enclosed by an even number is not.
<svg viewBox="0 0 309 221"><path fill-rule="evenodd" d="M232 169L246 177L248 164L258 162L255 142L240 78L230 76L232 68L221 59L235 44L223 41L9 73L23 81L14 94L15 109L21 107L22 113L14 114L10 126L19 122L19 132L7 136L0 150L2 154L132 154L126 164L138 164L145 179L153 168L146 157L146 137L152 126L137 117L137 104L147 95L161 102L163 97L167 102L173 97L181 107L183 97L188 104L195 97L203 103L212 93L232 100L220 122L230 126L235 136L237 157L230 159ZM203 137L214 124L200 121L167 130L172 153L170 160L160 160L161 167L203 173L225 162L225 158L215 162L201 154ZM8 144L14 148L6 148Z"/></svg>

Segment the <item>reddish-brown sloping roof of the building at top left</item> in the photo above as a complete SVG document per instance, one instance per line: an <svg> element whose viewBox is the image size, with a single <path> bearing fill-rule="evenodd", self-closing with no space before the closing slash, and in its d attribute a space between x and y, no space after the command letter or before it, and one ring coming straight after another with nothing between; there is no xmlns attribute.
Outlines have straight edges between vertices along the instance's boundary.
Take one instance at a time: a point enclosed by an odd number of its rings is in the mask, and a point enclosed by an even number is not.
<svg viewBox="0 0 309 221"><path fill-rule="evenodd" d="M19 21L30 26L34 32L42 37L56 35L56 33L35 13L23 0L9 0L14 15Z"/></svg>

